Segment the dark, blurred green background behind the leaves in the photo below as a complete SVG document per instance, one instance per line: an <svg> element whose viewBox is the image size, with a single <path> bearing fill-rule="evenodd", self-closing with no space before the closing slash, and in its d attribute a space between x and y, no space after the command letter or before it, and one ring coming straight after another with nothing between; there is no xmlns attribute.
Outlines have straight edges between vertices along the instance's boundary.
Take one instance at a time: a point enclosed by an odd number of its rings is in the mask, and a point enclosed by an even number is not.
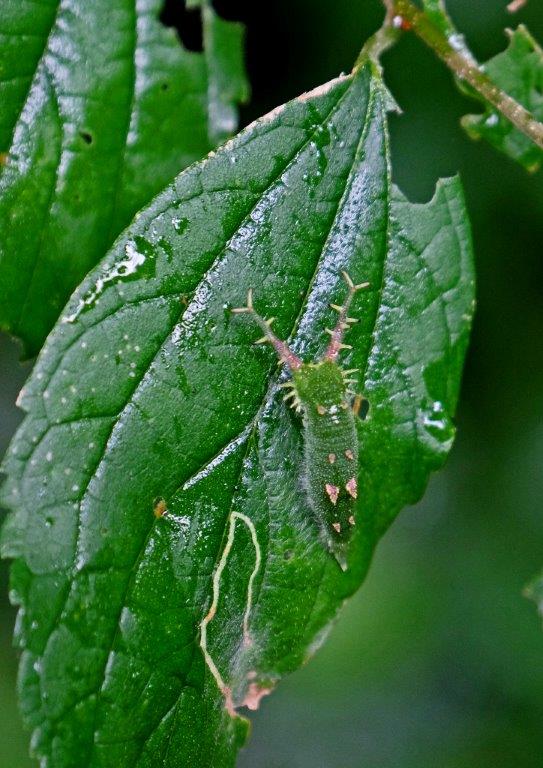
<svg viewBox="0 0 543 768"><path fill-rule="evenodd" d="M244 124L348 71L382 16L378 0L215 5L248 26ZM448 6L480 60L504 47L506 26L524 22L543 40L540 0L514 17L505 0ZM188 29L197 47L197 19ZM463 135L459 118L476 105L411 36L384 63L404 110L391 117L397 184L425 201L438 176L460 172L471 213L478 311L458 439L424 500L385 537L327 645L264 700L240 768L541 768L543 632L522 588L543 567L543 175ZM2 452L29 371L18 354L0 339ZM27 768L1 569L0 765Z"/></svg>

